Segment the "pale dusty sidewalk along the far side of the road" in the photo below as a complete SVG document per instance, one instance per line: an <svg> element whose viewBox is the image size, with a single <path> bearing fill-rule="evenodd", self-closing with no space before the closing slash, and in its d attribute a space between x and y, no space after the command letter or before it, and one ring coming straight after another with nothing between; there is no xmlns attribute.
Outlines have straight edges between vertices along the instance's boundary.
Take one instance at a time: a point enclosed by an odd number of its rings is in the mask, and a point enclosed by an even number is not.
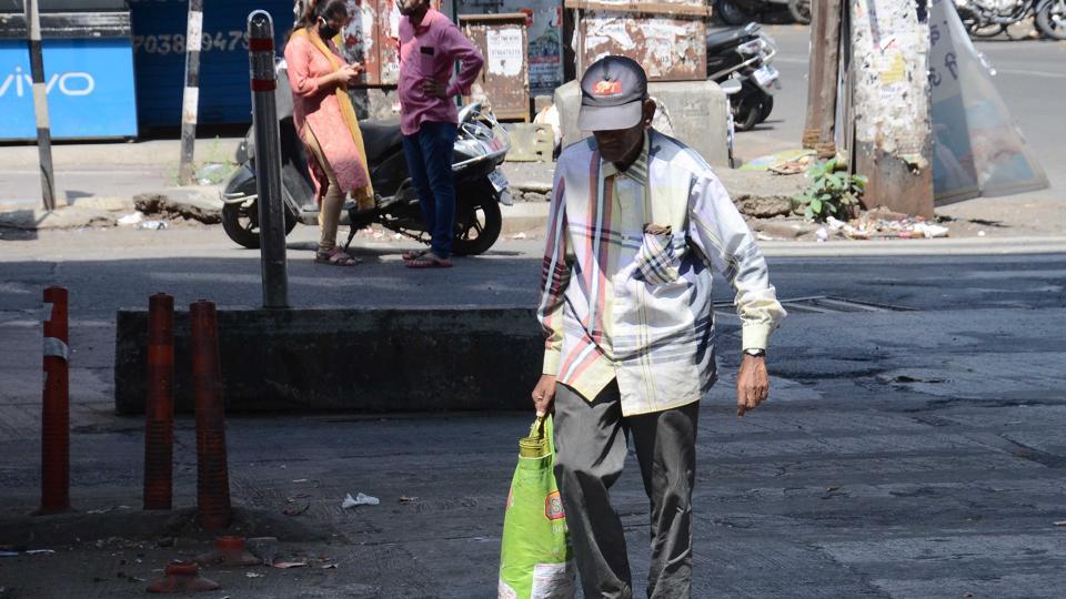
<svg viewBox="0 0 1066 599"><path fill-rule="evenodd" d="M750 146L781 145L772 132L748 132ZM758 140L763 140L760 142ZM197 160L227 162L233 155L239 139L198 140ZM768 145L767 145L768 144ZM37 149L32 145L0 146L0 162L10 164L0 173L0 219L12 221L11 211L21 216L19 223L42 223L39 226L70 229L112 222L134 210L133 196L157 193L179 204L188 191L174 187L179 142L155 140L137 143L61 144L56 146L57 185L77 210L49 217L39 209L39 175ZM519 200L514 206L504 206L504 233L541 233L547 215L547 191L551 189L552 163L505 163L504 173ZM760 210L775 210L805 185L802 175L774 175L746 171L720 170L718 176L735 201L750 214ZM191 193L214 202L214 189L203 187ZM525 201L523 201L525 200ZM755 212L752 212L755 211ZM109 214L110 213L110 214ZM1066 193L1043 190L1006 197L980 197L938 207L937 215L952 237L1048 237L1066 232ZM765 232L767 238L814 241L817 226L804 224L802 219L752 217L753 229ZM24 226L24 224L19 225ZM864 242L854 242L864 243ZM901 243L911 243L902 241Z"/></svg>

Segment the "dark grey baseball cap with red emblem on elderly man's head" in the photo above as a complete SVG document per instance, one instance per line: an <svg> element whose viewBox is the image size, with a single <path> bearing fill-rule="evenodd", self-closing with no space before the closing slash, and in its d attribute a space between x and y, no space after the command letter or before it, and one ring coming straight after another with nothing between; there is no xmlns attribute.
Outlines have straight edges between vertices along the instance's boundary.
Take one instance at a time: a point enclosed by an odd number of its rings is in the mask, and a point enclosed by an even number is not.
<svg viewBox="0 0 1066 599"><path fill-rule="evenodd" d="M640 63L626 57L604 57L581 78L577 128L611 131L636 126L646 99L647 75Z"/></svg>

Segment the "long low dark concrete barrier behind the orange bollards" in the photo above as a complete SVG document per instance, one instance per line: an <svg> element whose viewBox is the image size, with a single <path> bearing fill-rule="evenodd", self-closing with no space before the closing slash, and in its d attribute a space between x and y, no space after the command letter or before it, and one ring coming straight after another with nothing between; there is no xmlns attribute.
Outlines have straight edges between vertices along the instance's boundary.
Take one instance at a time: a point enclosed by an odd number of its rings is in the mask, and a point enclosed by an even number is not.
<svg viewBox="0 0 1066 599"><path fill-rule="evenodd" d="M228 412L531 409L533 308L220 309ZM174 400L191 412L189 313L174 315ZM114 407L144 410L148 312L117 317Z"/></svg>

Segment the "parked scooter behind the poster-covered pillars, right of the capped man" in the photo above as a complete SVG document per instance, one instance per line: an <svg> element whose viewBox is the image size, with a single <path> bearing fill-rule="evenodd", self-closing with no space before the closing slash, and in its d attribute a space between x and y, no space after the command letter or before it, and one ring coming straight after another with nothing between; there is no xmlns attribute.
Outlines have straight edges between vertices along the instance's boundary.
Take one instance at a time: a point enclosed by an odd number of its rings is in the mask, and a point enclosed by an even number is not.
<svg viewBox="0 0 1066 599"><path fill-rule="evenodd" d="M741 90L730 94L737 131L747 131L766 120L781 88L777 69L770 61L777 53L774 40L758 23L707 34L707 79L722 84L735 79Z"/></svg>

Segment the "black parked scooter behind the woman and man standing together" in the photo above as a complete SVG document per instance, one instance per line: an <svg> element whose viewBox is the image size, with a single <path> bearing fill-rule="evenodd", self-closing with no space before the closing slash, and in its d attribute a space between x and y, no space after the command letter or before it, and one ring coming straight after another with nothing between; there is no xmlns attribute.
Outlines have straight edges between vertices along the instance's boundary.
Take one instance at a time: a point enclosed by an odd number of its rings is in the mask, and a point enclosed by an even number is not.
<svg viewBox="0 0 1066 599"><path fill-rule="evenodd" d="M303 142L292 121L292 94L284 61L278 64L278 119L281 138L282 196L285 204L285 234L298 223L318 226L319 204L308 170ZM359 229L372 223L429 245L422 206L408 173L398 120L362 121L359 129L366 150L374 206L358 210L345 204L341 224L351 233L348 250ZM253 132L237 151L238 170L222 191L222 226L227 235L244 247L259 247L259 190L255 182ZM499 170L511 142L500 123L481 104L470 104L459 114L459 135L452 170L455 173L455 240L459 255L481 254L492 247L503 227L500 204L511 204L506 177Z"/></svg>

